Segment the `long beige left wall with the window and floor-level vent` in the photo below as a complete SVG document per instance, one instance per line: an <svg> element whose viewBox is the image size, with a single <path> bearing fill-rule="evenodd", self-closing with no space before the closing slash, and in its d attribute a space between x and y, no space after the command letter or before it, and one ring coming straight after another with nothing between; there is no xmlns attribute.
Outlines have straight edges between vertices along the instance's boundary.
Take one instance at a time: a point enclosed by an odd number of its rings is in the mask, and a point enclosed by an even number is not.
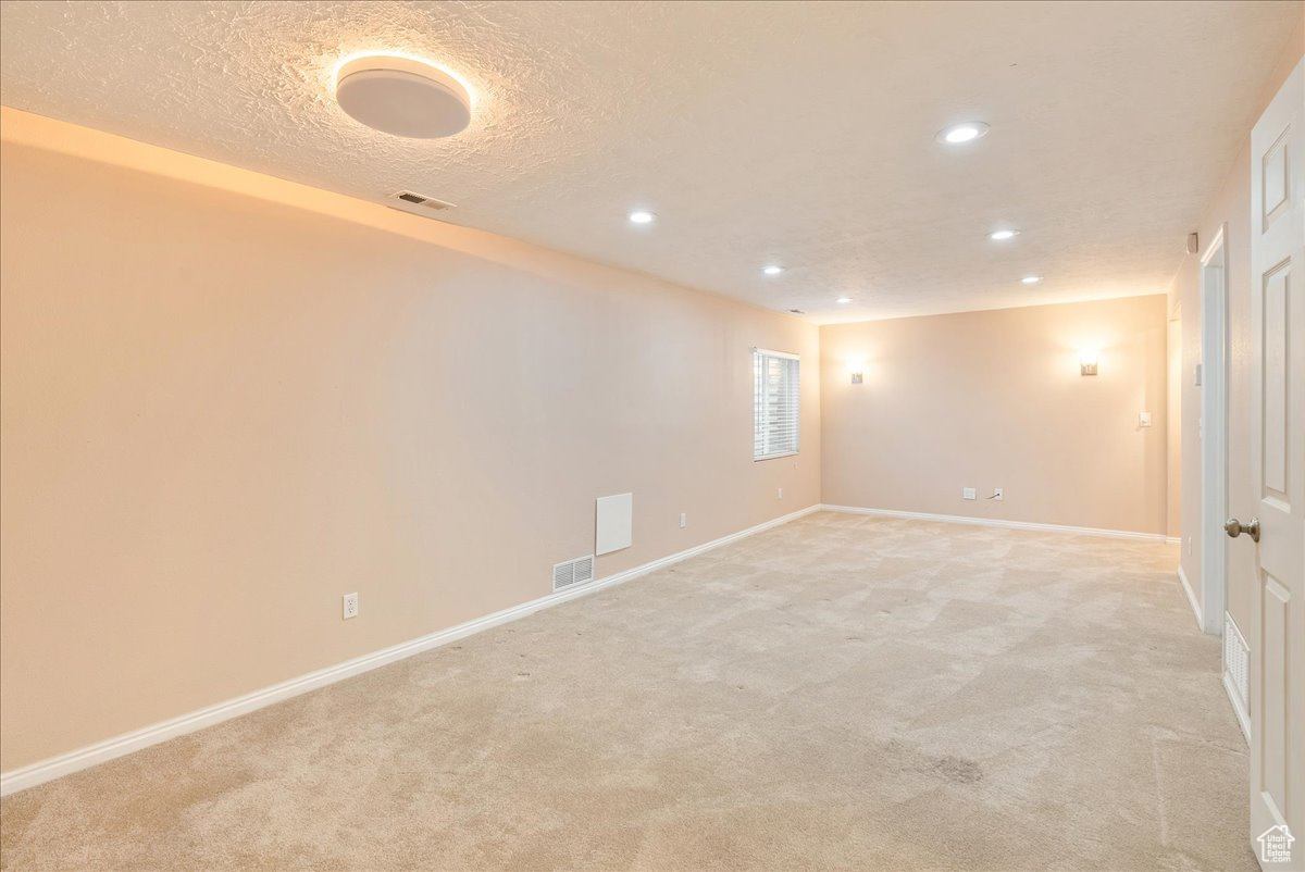
<svg viewBox="0 0 1305 872"><path fill-rule="evenodd" d="M4 770L820 501L814 326L3 112Z"/></svg>

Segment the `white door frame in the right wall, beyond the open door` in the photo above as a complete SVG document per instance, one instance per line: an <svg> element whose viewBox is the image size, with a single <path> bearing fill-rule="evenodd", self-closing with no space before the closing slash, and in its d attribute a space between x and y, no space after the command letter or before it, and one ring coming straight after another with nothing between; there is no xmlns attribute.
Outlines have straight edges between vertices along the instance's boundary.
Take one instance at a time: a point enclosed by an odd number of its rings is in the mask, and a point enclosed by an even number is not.
<svg viewBox="0 0 1305 872"><path fill-rule="evenodd" d="M1223 634L1228 598L1228 225L1201 256L1201 629ZM1216 262L1218 261L1218 262Z"/></svg>

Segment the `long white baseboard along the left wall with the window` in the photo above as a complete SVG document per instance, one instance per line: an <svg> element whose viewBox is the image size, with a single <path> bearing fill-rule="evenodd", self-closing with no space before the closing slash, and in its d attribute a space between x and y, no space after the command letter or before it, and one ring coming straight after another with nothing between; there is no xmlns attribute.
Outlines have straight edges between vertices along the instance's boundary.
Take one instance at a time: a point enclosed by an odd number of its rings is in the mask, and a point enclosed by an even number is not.
<svg viewBox="0 0 1305 872"><path fill-rule="evenodd" d="M703 553L705 551L711 551L713 548L719 548L729 544L731 542L737 542L739 539L756 535L763 530L770 530L771 527L788 523L790 521L796 521L800 517L818 512L820 508L820 505L809 505L805 509L784 514L771 521L766 521L765 523L748 527L746 530L732 533L727 537L720 537L719 539L713 539L711 542L694 546L693 548L680 551L667 557L652 560L639 567L634 567L633 569L626 569L613 576L599 578L598 581L579 587L552 593L545 597L540 597L539 599L532 599L527 603L513 606L510 608L493 612L492 615L485 615L484 617L476 617L475 620L458 624L457 627L441 629L428 636L422 636L420 638L394 645L393 647L381 649L380 651L364 654L363 657L317 670L316 672L300 675L299 677L290 679L288 681L282 681L281 684L274 684L269 688L254 691L253 693L247 693L234 700L211 705L206 709L200 709L198 711L192 711L177 718L170 718L168 721L163 721L141 730L133 730L120 736L106 739L104 741L97 741L95 744L78 748L77 751L70 751L56 757L50 757L48 760L42 760L27 766L0 773L0 796L8 796L9 794L20 790L35 787L37 785L42 785L47 781L54 781L55 778L61 778L63 775L69 775L74 771L89 769L102 762L108 762L115 757L129 755L133 751L157 745L161 741L167 741L168 739L194 732L196 730L211 727L217 723L222 723L223 721L230 721L231 718L240 717L241 714L248 714L275 702L299 696L300 693L316 691L317 688L326 687L328 684L334 684L335 681L342 681L388 663L402 661L403 658L412 657L414 654L429 651L431 649L440 647L441 645L448 645L449 642L459 638L466 638L467 636L480 633L492 627L499 627L501 624L526 617L527 615L532 615L540 610L551 608L579 597L586 597L604 587L611 587L613 585L630 581L632 578L638 578L639 576L646 576L650 572L662 569L663 567L669 567L671 564L686 560Z"/></svg>

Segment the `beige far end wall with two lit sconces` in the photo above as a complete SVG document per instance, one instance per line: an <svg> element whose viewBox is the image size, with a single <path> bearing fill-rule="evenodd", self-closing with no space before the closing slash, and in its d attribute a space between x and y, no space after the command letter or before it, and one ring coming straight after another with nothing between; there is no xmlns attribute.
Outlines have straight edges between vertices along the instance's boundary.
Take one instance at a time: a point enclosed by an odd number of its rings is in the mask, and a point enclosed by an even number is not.
<svg viewBox="0 0 1305 872"><path fill-rule="evenodd" d="M823 501L1163 534L1165 333L1164 296L821 328Z"/></svg>

